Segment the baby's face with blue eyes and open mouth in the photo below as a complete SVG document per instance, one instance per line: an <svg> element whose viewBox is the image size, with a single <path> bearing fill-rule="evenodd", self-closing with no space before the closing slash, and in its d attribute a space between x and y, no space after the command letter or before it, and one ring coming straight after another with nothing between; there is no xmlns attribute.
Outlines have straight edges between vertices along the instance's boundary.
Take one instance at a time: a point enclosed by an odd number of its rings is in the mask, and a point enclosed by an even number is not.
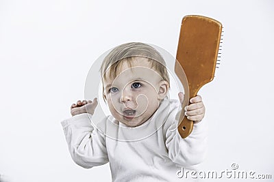
<svg viewBox="0 0 274 182"><path fill-rule="evenodd" d="M151 69L142 57L134 58L132 67L126 61L116 78L109 71L103 80L104 95L113 117L129 127L145 123L157 110L168 91L167 82Z"/></svg>

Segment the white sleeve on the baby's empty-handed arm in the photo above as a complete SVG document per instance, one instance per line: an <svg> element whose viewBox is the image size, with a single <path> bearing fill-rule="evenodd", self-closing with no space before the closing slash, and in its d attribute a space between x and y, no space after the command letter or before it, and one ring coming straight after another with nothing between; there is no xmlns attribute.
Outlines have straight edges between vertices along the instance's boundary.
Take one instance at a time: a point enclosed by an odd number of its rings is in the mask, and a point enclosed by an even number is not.
<svg viewBox="0 0 274 182"><path fill-rule="evenodd" d="M73 161L84 168L108 162L105 136L90 121L92 115L75 115L61 122Z"/></svg>

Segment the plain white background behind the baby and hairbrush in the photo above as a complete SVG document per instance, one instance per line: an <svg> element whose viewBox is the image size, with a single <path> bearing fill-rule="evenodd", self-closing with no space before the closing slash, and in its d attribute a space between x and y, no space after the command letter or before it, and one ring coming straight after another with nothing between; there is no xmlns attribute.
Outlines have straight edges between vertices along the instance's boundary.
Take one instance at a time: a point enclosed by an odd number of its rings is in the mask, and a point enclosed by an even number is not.
<svg viewBox="0 0 274 182"><path fill-rule="evenodd" d="M105 50L146 42L175 56L183 16L223 23L221 66L199 94L210 122L205 170L274 178L274 1L0 1L0 173L10 181L110 181L73 163L60 121L84 98ZM272 179L273 180L273 179ZM210 180L209 180L210 181ZM269 181L269 180L264 180Z"/></svg>

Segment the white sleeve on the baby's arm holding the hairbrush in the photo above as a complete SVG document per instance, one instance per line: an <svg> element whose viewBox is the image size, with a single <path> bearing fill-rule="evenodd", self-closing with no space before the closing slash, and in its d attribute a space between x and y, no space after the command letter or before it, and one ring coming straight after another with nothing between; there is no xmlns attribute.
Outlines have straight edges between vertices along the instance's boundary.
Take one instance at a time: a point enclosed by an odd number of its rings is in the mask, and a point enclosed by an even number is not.
<svg viewBox="0 0 274 182"><path fill-rule="evenodd" d="M166 131L166 148L170 159L179 166L200 164L206 157L208 138L208 123L201 121L193 125L191 134L182 138L173 124Z"/></svg>

